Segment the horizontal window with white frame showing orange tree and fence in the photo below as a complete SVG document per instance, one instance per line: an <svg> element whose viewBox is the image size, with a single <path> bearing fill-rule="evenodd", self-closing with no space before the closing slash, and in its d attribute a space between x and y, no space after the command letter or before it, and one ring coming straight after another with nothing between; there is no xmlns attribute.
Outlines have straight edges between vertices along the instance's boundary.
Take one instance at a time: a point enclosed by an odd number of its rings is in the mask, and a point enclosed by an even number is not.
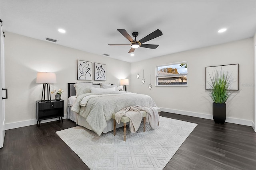
<svg viewBox="0 0 256 170"><path fill-rule="evenodd" d="M156 86L187 86L188 62L156 66Z"/></svg>

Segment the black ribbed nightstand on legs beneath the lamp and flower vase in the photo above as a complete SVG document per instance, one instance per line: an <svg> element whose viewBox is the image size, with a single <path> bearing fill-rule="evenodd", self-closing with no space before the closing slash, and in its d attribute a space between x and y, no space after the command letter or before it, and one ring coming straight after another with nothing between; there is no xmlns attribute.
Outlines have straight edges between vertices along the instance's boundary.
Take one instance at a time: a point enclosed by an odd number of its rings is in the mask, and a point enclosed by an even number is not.
<svg viewBox="0 0 256 170"><path fill-rule="evenodd" d="M36 119L38 127L41 120L52 119L58 117L59 120L64 116L64 100L36 101Z"/></svg>

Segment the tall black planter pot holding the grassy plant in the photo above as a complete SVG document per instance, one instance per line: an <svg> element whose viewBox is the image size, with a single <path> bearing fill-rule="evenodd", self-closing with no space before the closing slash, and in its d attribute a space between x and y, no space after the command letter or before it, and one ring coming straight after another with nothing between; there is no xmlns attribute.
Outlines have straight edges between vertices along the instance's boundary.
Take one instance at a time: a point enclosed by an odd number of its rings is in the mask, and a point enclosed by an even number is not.
<svg viewBox="0 0 256 170"><path fill-rule="evenodd" d="M212 117L215 123L224 124L226 120L226 104L212 103Z"/></svg>

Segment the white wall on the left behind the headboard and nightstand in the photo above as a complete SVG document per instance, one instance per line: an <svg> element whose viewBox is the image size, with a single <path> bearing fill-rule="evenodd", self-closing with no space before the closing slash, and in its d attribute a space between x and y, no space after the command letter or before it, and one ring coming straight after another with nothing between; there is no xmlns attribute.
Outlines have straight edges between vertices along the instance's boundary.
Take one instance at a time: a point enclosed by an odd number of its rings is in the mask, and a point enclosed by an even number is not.
<svg viewBox="0 0 256 170"><path fill-rule="evenodd" d="M106 83L119 84L120 79L129 78L130 63L10 32L5 35L5 77L8 88L5 129L36 123L36 100L41 100L43 86L36 83L37 72L56 73L57 83L50 84L50 88L64 90L62 99L65 100L65 108L68 83L78 81L77 59L92 64L106 64ZM95 81L99 82L104 81ZM54 94L51 97L54 98Z"/></svg>

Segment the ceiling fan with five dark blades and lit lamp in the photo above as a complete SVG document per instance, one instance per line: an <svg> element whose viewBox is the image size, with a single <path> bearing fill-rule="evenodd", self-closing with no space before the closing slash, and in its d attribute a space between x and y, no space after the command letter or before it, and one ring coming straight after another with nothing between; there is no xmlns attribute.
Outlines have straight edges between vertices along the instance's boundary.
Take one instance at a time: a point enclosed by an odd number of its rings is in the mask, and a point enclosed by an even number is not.
<svg viewBox="0 0 256 170"><path fill-rule="evenodd" d="M126 37L131 43L130 44L108 44L108 45L130 45L132 48L128 53L134 52L134 50L138 47L144 47L144 48L149 48L149 49L156 49L159 45L155 44L143 44L151 39L154 39L156 37L159 37L163 35L162 31L157 29L156 31L148 34L146 37L140 39L139 41L136 40L136 37L138 37L139 33L138 32L133 32L132 36L135 37L133 40L132 37L127 33L125 29L117 29L124 37Z"/></svg>

